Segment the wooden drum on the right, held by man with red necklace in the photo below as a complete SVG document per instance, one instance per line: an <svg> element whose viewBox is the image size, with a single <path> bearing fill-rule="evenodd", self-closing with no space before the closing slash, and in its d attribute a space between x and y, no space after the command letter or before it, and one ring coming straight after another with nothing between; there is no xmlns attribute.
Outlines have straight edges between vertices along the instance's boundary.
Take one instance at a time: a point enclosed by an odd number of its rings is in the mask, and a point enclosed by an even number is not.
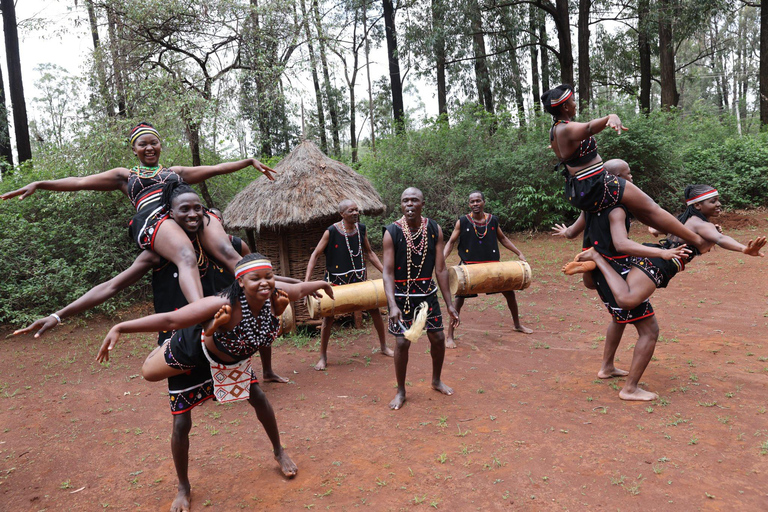
<svg viewBox="0 0 768 512"><path fill-rule="evenodd" d="M525 261L456 265L448 269L453 295L524 290L531 285L531 266Z"/></svg>

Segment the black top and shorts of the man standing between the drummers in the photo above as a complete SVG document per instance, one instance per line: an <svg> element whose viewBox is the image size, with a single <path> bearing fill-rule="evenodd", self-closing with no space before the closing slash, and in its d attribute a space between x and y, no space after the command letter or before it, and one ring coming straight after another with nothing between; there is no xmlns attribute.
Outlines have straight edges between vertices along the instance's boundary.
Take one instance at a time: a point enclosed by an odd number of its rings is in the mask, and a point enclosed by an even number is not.
<svg viewBox="0 0 768 512"><path fill-rule="evenodd" d="M400 221L396 221L384 228L384 231L389 232L389 236L392 237L395 250L395 303L403 314L403 324L408 328L413 323L416 307L420 303L426 302L427 332L442 331L443 315L440 311L440 304L437 301L437 285L432 279L432 273L435 269L435 251L439 228L434 220L426 218L425 220L427 221L426 229L418 237L414 236L412 240L413 244L418 246L422 243L422 237L427 237L422 253L411 251L410 276L407 254L408 242ZM407 226L406 229L408 229ZM419 266L421 266L420 272ZM408 279L409 277L410 280ZM388 330L395 336L403 334L400 326L391 320Z"/></svg>

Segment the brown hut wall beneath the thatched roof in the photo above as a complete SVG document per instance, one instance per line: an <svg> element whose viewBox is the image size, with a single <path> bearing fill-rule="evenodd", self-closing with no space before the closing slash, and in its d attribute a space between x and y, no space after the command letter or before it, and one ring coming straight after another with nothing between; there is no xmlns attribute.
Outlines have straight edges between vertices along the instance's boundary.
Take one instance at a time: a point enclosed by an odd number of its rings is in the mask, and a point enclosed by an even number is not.
<svg viewBox="0 0 768 512"><path fill-rule="evenodd" d="M309 257L331 222L287 227L279 231L263 229L256 241L256 250L272 261L276 274L303 281L307 273ZM287 272L284 266L289 267ZM322 280L324 274L325 255L320 254L312 272L312 279ZM294 311L297 324L310 320L303 299L294 303Z"/></svg>

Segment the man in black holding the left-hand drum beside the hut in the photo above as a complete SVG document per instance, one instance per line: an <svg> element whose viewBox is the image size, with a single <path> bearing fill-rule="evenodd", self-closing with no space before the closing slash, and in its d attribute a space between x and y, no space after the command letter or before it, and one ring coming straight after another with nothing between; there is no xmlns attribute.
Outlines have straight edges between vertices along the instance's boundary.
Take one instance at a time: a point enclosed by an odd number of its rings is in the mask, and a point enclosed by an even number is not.
<svg viewBox="0 0 768 512"><path fill-rule="evenodd" d="M371 244L366 236L365 224L360 224L360 211L354 201L345 199L339 203L339 215L341 220L323 233L320 242L315 247L307 263L307 275L305 282L312 277L317 258L320 253L325 253L325 280L331 286L340 284L359 283L367 279L365 260L367 259L379 272L383 270L381 261L371 249ZM387 347L384 339L384 320L378 308L368 311L379 335L381 353L392 357L395 353ZM320 328L320 360L315 365L315 370L325 370L328 365L328 341L331 337L333 317L323 318L323 326Z"/></svg>

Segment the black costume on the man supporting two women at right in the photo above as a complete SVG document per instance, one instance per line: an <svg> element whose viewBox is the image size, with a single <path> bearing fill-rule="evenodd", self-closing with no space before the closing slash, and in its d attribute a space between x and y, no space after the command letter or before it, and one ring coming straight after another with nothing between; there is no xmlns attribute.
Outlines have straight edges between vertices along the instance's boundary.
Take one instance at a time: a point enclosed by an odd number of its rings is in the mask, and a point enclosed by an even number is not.
<svg viewBox="0 0 768 512"><path fill-rule="evenodd" d="M608 260L611 267L624 279L627 278L627 274L631 268L632 257L626 254L619 254L613 245L613 237L611 236L611 222L608 218L610 213L616 209L621 208L626 214L626 228L629 233L630 226L630 213L623 205L617 205L612 208L608 208L598 213L585 213L586 228L584 229L584 241L582 247L584 250L590 247L595 249L603 258ZM646 299L637 307L626 310L622 309L616 303L616 299L613 296L608 281L599 269L592 271L592 280L597 287L597 293L600 295L600 299L605 304L608 312L613 315L613 319L619 324L629 324L648 318L654 315L653 306L650 301Z"/></svg>

